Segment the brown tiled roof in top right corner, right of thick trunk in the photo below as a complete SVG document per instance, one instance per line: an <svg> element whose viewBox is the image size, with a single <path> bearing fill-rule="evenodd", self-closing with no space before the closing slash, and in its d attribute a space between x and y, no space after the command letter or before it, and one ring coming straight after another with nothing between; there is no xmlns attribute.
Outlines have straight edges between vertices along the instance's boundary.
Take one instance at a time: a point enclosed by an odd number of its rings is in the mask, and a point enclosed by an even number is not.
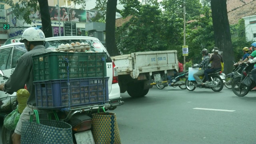
<svg viewBox="0 0 256 144"><path fill-rule="evenodd" d="M236 0L228 0L228 1L236 1ZM227 1L227 4L228 4L228 1ZM238 20L240 20L245 16L256 15L255 8L256 8L256 0L251 0L250 2L245 3L242 6L236 7L228 11L229 24L237 24Z"/></svg>

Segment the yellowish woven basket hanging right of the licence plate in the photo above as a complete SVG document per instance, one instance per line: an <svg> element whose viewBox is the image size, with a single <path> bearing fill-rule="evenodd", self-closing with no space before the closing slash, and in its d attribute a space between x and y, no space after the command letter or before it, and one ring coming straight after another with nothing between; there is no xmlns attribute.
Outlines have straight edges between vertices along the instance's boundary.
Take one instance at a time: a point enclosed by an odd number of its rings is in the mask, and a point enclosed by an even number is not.
<svg viewBox="0 0 256 144"><path fill-rule="evenodd" d="M92 114L92 135L95 144L121 144L116 114L112 112Z"/></svg>

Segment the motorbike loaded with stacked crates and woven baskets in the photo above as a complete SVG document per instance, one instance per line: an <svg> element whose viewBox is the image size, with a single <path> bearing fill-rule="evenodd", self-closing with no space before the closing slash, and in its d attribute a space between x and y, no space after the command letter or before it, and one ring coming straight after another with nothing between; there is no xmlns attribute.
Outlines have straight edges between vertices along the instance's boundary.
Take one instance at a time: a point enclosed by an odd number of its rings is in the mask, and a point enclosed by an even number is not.
<svg viewBox="0 0 256 144"><path fill-rule="evenodd" d="M2 70L0 70L0 76L4 76ZM122 101L122 103L124 103ZM115 105L112 105L115 106ZM72 137L74 144L77 144L76 138L86 138L92 126L92 114L97 112L105 112L112 107L109 103L95 104L88 106L81 106L76 108L70 108L68 112L56 110L60 121L67 122L72 126ZM16 107L16 106L15 106ZM47 115L52 113L52 110L38 110L39 118L47 118ZM12 144L12 134L14 131L8 130L4 125L2 126L2 143ZM76 135L75 135L76 134ZM85 140L86 141L86 140Z"/></svg>

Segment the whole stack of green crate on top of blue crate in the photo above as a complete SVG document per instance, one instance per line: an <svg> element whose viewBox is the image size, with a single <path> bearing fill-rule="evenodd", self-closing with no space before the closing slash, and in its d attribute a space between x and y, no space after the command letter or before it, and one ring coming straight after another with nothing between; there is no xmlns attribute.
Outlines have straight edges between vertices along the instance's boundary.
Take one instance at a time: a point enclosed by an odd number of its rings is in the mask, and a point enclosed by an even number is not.
<svg viewBox="0 0 256 144"><path fill-rule="evenodd" d="M38 108L72 108L108 101L106 52L47 52L32 59Z"/></svg>

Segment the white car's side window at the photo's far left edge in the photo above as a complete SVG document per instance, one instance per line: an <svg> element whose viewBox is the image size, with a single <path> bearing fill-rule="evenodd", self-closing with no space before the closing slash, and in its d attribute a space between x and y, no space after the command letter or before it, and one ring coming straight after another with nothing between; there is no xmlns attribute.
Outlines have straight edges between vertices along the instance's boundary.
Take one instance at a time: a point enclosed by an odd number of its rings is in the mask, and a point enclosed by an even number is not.
<svg viewBox="0 0 256 144"><path fill-rule="evenodd" d="M0 70L11 68L11 50L12 47L0 50Z"/></svg>

